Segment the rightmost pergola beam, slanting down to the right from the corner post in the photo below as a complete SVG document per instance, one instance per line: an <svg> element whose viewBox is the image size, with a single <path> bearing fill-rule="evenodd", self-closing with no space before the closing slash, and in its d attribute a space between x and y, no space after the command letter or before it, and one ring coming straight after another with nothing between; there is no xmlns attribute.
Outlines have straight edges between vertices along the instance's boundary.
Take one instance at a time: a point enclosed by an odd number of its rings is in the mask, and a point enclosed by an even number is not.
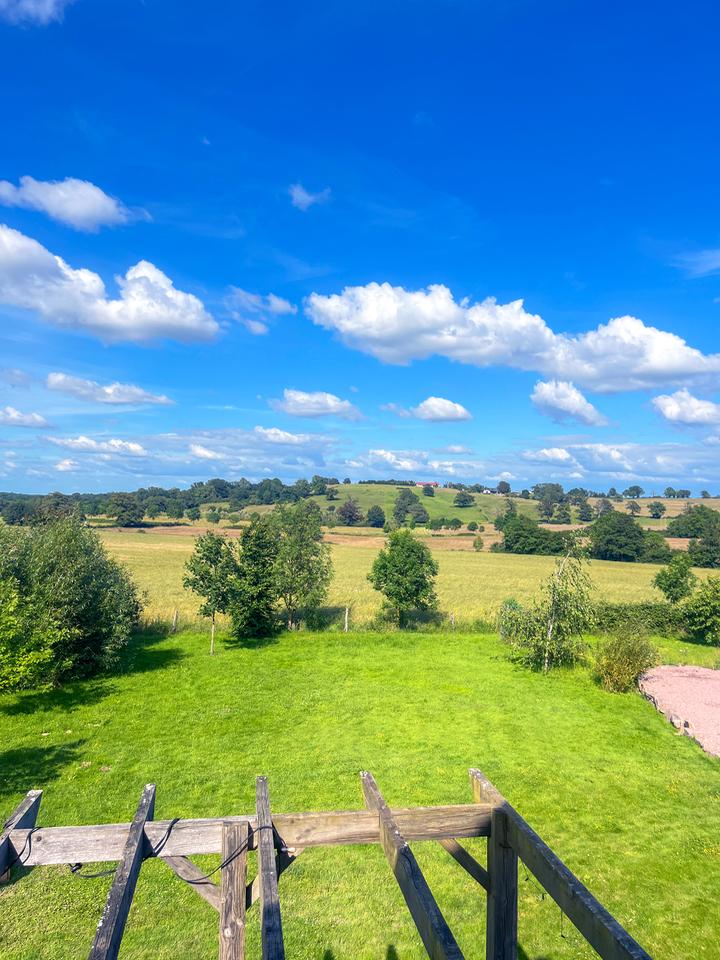
<svg viewBox="0 0 720 960"><path fill-rule="evenodd" d="M651 960L487 778L479 770L471 770L470 779L474 795L482 801L492 798L493 791L495 802L500 798L506 815L508 842L603 960Z"/></svg>

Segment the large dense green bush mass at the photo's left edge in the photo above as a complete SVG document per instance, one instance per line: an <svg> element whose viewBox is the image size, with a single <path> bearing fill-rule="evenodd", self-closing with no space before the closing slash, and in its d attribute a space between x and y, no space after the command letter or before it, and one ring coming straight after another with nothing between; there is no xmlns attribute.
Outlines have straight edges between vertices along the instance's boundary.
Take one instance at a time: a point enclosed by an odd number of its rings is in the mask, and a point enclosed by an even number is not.
<svg viewBox="0 0 720 960"><path fill-rule="evenodd" d="M0 527L0 689L114 666L141 609L130 575L78 518Z"/></svg>

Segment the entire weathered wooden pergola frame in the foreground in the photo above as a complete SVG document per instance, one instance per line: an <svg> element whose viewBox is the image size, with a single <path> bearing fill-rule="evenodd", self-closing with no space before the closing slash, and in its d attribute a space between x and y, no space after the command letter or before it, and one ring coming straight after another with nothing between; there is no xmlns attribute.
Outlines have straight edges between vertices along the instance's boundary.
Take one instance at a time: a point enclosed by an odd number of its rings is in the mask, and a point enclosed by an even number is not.
<svg viewBox="0 0 720 960"><path fill-rule="evenodd" d="M362 773L365 810L272 815L265 777L256 783L255 813L200 820L153 819L155 787L145 787L131 823L38 827L41 791L32 790L0 834L0 880L14 867L117 861L90 960L118 956L144 860L161 859L218 913L220 960L243 960L247 911L260 908L263 960L283 960L285 946L278 881L306 847L379 843L432 960L463 954L409 846L436 841L487 892L486 960L517 960L518 861L522 860L603 960L651 960L590 891L479 771L470 771L475 802L391 808L372 774ZM487 867L459 842L487 838ZM258 873L248 883L247 853L257 850ZM213 871L192 855L220 854ZM474 908L474 907L473 907Z"/></svg>

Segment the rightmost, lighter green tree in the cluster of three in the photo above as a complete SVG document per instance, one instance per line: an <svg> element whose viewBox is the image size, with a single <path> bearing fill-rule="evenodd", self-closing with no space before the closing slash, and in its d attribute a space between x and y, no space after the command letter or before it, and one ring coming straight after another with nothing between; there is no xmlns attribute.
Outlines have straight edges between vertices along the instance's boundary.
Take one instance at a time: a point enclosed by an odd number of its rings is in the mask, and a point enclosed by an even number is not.
<svg viewBox="0 0 720 960"><path fill-rule="evenodd" d="M292 630L300 611L316 610L332 579L330 546L322 542L322 516L314 503L278 507L273 515L280 543L275 582Z"/></svg>

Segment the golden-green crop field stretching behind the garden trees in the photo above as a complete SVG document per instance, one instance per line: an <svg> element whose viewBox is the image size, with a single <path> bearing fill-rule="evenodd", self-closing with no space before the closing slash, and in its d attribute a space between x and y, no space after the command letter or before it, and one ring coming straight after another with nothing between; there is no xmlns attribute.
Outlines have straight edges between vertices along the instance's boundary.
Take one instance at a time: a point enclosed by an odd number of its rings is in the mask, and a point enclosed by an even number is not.
<svg viewBox="0 0 720 960"><path fill-rule="evenodd" d="M197 602L183 589L185 561L194 540L187 534L166 531L104 530L101 536L111 553L132 571L147 591L146 617L169 620L177 607L183 619L194 619ZM333 544L334 577L328 602L352 609L353 623L367 623L380 607L379 595L367 581L377 553L378 538L357 537L355 544ZM552 557L514 556L444 549L441 538L428 538L440 568L440 609L458 620L491 616L507 597L525 599L553 568ZM659 598L652 579L659 567L644 563L610 563L595 560L590 571L600 596L608 600ZM702 571L698 571L702 575Z"/></svg>

